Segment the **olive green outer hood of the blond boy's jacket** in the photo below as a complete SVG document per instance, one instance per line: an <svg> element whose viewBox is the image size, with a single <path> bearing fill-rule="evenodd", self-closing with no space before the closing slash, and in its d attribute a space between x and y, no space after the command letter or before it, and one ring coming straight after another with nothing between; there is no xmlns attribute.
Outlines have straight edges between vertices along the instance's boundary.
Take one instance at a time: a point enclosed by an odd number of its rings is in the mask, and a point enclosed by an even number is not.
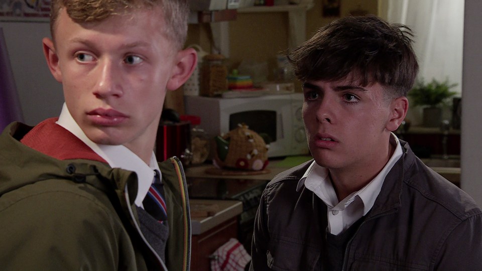
<svg viewBox="0 0 482 271"><path fill-rule="evenodd" d="M124 193L129 184L129 198L134 202L137 194L136 173L126 174L126 171L112 169L102 162L89 160L87 164L83 159L58 160L44 155L20 142L32 128L14 122L0 135L0 195L38 181L63 179L87 182L102 191L113 187L118 195Z"/></svg>

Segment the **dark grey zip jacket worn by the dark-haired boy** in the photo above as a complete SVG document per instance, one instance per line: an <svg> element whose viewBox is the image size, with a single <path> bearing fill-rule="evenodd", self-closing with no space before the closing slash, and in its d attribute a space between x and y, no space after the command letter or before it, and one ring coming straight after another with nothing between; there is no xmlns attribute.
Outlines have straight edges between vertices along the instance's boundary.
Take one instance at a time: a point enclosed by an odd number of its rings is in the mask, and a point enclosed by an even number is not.
<svg viewBox="0 0 482 271"><path fill-rule="evenodd" d="M343 270L482 270L482 211L401 143L402 158L345 247ZM311 162L263 192L251 270L323 270L326 205L297 190Z"/></svg>

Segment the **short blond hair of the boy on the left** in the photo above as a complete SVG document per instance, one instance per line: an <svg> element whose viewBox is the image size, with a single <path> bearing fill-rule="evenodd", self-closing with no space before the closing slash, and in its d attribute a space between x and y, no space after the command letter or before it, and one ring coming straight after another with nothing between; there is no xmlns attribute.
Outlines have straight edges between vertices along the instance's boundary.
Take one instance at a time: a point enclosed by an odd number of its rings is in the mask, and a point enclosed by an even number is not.
<svg viewBox="0 0 482 271"><path fill-rule="evenodd" d="M112 15L129 14L136 9L160 7L167 37L177 48L182 48L187 36L189 6L187 0L52 0L50 6L50 32L54 37L54 26L60 10L65 8L69 17L77 23L100 22Z"/></svg>

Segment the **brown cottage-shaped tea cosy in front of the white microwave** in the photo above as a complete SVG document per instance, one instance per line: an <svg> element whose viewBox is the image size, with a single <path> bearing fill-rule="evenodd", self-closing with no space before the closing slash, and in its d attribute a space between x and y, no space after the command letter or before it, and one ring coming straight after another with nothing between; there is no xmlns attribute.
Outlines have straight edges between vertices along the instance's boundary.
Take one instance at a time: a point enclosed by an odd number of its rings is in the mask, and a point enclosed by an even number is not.
<svg viewBox="0 0 482 271"><path fill-rule="evenodd" d="M245 124L215 138L217 168L263 170L268 165L268 148L263 138Z"/></svg>

